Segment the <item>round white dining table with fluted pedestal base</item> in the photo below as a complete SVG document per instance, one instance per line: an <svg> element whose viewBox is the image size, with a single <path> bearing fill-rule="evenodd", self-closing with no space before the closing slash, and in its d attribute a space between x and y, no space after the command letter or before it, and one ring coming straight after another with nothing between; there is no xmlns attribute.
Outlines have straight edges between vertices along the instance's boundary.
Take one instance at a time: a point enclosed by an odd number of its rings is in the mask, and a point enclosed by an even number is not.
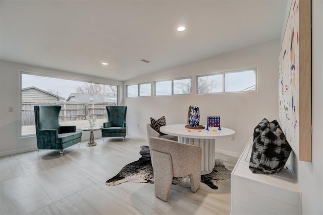
<svg viewBox="0 0 323 215"><path fill-rule="evenodd" d="M198 146L202 149L201 175L213 171L216 161L216 139L232 137L235 131L230 128L208 127L204 129L185 128L185 124L164 125L160 132L178 136L178 141Z"/></svg>

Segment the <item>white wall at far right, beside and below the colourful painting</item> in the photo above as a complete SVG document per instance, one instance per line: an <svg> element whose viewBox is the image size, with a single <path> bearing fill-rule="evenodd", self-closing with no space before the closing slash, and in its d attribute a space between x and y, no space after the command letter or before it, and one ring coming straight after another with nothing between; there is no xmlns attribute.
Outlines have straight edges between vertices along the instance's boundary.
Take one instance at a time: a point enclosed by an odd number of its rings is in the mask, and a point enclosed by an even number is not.
<svg viewBox="0 0 323 215"><path fill-rule="evenodd" d="M323 1L312 0L312 162L293 154L303 214L323 214Z"/></svg>

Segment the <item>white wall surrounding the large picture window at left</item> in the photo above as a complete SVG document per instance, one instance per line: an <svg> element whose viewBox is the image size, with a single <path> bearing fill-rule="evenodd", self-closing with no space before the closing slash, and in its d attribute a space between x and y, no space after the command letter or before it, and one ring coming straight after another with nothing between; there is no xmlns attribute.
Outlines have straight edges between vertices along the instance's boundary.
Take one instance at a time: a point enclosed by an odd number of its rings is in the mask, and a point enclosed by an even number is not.
<svg viewBox="0 0 323 215"><path fill-rule="evenodd" d="M20 71L28 71L41 75L50 75L80 81L91 81L112 84L120 87L122 104L122 82L92 76L78 75L66 71L53 70L8 61L0 61L0 156L16 154L37 149L35 137L19 138L19 79ZM13 107L14 112L9 112L8 107ZM95 132L99 137L100 132ZM88 132L83 132L82 140L89 138Z"/></svg>

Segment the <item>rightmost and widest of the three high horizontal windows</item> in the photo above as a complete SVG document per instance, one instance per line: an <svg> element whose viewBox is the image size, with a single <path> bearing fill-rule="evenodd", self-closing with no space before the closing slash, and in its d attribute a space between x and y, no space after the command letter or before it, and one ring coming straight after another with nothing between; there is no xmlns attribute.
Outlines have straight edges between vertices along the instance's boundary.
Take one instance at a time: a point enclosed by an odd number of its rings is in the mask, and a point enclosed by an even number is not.
<svg viewBox="0 0 323 215"><path fill-rule="evenodd" d="M256 91L256 68L197 77L197 94Z"/></svg>

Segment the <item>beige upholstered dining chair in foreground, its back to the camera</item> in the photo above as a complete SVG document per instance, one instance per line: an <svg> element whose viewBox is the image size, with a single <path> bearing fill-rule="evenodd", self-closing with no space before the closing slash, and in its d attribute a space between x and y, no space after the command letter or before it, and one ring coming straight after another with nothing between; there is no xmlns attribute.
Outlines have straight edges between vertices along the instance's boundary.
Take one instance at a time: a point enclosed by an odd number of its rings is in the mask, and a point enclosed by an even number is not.
<svg viewBox="0 0 323 215"><path fill-rule="evenodd" d="M190 177L191 191L201 184L201 148L170 139L149 137L155 196L167 201L173 177Z"/></svg>

